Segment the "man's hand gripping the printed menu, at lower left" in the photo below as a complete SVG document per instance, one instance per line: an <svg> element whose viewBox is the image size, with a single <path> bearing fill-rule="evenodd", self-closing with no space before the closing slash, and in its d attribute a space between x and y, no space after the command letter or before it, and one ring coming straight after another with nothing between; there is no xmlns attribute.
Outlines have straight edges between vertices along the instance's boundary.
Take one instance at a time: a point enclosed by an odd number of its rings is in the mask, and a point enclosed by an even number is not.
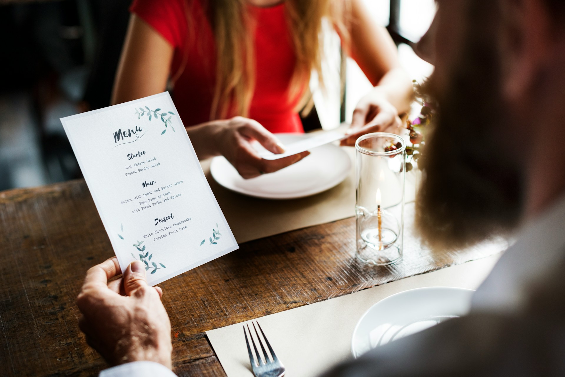
<svg viewBox="0 0 565 377"><path fill-rule="evenodd" d="M123 278L116 257L86 272L76 305L86 342L110 365L154 361L171 368L171 322L159 287L145 280L145 265L132 262Z"/></svg>

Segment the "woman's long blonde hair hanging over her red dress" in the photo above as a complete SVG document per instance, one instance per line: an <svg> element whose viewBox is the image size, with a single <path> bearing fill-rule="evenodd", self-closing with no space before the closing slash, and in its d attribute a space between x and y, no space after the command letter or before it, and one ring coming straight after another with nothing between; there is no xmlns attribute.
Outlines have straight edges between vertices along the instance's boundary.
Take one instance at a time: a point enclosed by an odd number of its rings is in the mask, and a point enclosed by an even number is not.
<svg viewBox="0 0 565 377"><path fill-rule="evenodd" d="M323 19L328 19L340 34L342 43L345 42L349 36L344 16L347 3L346 0L282 1L285 1L286 19L296 55L288 101L295 101L302 94L297 106L301 107L310 96L309 90L303 91L303 88L310 81L312 70L318 72L320 83L323 83ZM247 0L208 0L217 57L211 120L247 116L249 113L255 88L254 45L250 33L254 30L255 20L247 6ZM175 77L178 76L179 72Z"/></svg>

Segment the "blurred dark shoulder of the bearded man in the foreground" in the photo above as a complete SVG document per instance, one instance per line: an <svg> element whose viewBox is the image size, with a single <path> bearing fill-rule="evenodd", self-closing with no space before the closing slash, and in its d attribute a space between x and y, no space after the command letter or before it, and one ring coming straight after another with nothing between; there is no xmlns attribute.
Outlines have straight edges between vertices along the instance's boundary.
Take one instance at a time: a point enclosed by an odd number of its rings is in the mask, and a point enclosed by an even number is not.
<svg viewBox="0 0 565 377"><path fill-rule="evenodd" d="M555 265L520 313L473 313L380 346L324 377L563 376L565 278Z"/></svg>

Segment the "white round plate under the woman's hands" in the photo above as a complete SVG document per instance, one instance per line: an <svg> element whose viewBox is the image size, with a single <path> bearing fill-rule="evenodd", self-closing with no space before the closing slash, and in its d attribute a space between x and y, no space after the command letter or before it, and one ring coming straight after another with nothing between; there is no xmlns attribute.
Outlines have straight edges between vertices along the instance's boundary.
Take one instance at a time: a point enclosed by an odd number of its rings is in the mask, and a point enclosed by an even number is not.
<svg viewBox="0 0 565 377"><path fill-rule="evenodd" d="M307 135L277 134L282 144L307 138ZM340 147L327 144L289 167L252 179L243 179L224 157L210 165L214 180L223 187L248 196L267 199L294 199L318 194L340 184L351 170L351 159Z"/></svg>

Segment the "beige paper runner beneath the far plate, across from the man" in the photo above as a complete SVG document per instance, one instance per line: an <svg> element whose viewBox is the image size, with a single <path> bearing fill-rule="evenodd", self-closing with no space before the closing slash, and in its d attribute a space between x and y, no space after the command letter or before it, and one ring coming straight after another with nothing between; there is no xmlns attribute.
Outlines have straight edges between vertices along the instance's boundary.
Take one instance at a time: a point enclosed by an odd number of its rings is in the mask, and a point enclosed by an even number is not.
<svg viewBox="0 0 565 377"><path fill-rule="evenodd" d="M323 193L294 200L252 198L221 187L210 175L210 161L201 161L212 192L238 243L355 216L355 148L342 147L351 158L349 176ZM414 200L414 180L407 174L406 201Z"/></svg>

